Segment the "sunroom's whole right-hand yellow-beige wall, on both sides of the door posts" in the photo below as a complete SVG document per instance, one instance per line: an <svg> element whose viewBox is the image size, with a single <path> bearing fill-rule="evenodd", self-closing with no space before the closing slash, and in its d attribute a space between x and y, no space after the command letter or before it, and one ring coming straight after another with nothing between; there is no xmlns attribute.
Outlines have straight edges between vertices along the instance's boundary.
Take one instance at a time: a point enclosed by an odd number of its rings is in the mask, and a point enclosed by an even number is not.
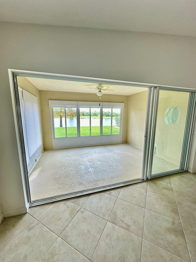
<svg viewBox="0 0 196 262"><path fill-rule="evenodd" d="M143 149L148 91L129 96L127 143ZM160 90L154 153L177 165L180 163L189 93ZM181 117L176 125L166 125L165 110L179 106Z"/></svg>

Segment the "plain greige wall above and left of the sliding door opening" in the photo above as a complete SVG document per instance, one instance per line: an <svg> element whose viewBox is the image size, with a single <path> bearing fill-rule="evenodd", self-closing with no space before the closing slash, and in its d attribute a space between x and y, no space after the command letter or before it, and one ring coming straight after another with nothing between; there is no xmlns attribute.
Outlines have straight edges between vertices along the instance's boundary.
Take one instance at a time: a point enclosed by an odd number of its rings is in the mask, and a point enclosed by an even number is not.
<svg viewBox="0 0 196 262"><path fill-rule="evenodd" d="M0 199L4 212L27 204L8 68L195 88L196 37L8 22L0 22L0 32ZM192 152L195 155L195 144ZM196 161L192 164L196 168Z"/></svg>

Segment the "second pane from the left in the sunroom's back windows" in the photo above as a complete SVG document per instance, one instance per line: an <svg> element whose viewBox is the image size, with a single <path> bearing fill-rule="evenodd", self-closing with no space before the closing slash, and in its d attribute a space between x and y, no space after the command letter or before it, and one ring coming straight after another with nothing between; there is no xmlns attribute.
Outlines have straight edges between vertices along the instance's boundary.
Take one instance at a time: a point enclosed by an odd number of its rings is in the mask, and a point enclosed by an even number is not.
<svg viewBox="0 0 196 262"><path fill-rule="evenodd" d="M67 137L77 136L77 109L66 108Z"/></svg>

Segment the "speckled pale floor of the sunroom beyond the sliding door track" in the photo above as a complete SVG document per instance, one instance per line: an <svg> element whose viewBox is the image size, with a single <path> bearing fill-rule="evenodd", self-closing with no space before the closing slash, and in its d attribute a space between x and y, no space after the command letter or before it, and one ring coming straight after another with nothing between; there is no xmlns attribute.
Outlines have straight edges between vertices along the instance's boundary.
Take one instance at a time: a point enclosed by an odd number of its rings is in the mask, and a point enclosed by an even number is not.
<svg viewBox="0 0 196 262"><path fill-rule="evenodd" d="M142 158L126 143L44 151L29 178L32 200L140 179ZM154 173L176 168L154 156Z"/></svg>

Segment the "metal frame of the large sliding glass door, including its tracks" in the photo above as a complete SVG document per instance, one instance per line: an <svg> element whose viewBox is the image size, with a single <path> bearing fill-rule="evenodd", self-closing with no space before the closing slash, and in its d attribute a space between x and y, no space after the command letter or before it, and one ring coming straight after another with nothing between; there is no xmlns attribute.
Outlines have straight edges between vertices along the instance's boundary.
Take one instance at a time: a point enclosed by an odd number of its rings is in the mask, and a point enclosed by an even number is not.
<svg viewBox="0 0 196 262"><path fill-rule="evenodd" d="M21 166L21 175L22 175L22 183L24 189L24 196L26 201L27 209L30 206L40 205L43 203L49 203L57 200L62 200L70 197L90 194L99 192L102 190L112 189L119 186L130 185L133 183L141 182L143 180L149 179L149 157L152 158L152 152L149 152L149 148L152 148L153 144L151 143L152 134L154 135L155 124L152 123L153 118L155 118L153 112L153 104L154 104L154 96L156 96L156 103L158 103L158 92L157 88L161 88L164 90L178 90L178 91L189 91L193 92L193 100L190 103L190 121L187 126L187 130L189 130L189 134L187 135L187 139L185 141L186 148L186 160L183 161L183 166L186 166L190 157L190 148L191 142L193 137L193 126L195 122L195 114L193 115L196 103L195 92L196 89L189 89L189 88L180 88L180 87L172 87L172 86L163 86L163 85L154 85L154 84L143 84L143 83L136 83L136 82L129 82L129 81L118 81L118 80L108 80L108 79L100 79L100 78L92 78L92 77L82 77L82 76L69 76L69 75L62 75L62 74L52 74L52 73L44 73L44 72L32 72L32 71L23 71L23 70L15 70L15 69L8 69L9 72L9 82L10 82L10 90L11 90L11 97L12 97L12 104L13 104L13 114L14 114L14 121L15 121L15 128L16 128L16 136L17 136L17 145L18 145L18 152L19 152L19 160ZM19 103L19 95L18 95L18 85L17 85L17 76L24 76L24 77L38 77L38 78L48 78L48 79L58 79L58 80L71 80L71 81L80 81L80 82L89 82L89 83L103 83L103 84L115 84L115 85L125 85L130 87L145 87L148 88L148 102L147 102L147 113L146 113L146 127L145 127L145 141L144 141L144 153L143 153L143 167L142 167L142 176L141 179L135 179L125 182L119 182L107 186L97 187L89 190L82 190L75 193L64 194L60 196L48 197L45 199L32 201L30 196L30 186L28 181L28 172L27 172L27 162L25 156L25 143L22 131L22 122L21 122L21 113L20 113L20 103ZM156 93L156 95L155 95ZM157 108L157 105L156 105ZM102 110L102 109L101 109ZM157 113L157 112L156 112ZM102 119L100 119L102 121ZM78 123L79 126L79 123ZM190 128L190 129L189 129ZM100 130L102 132L102 130ZM154 140L152 140L154 141ZM152 159L151 159L152 160ZM151 163L152 165L152 163ZM184 171L184 170L182 170ZM170 172L169 174L180 172L180 170ZM164 174L160 175L167 175L165 172ZM154 176L153 176L154 177Z"/></svg>

